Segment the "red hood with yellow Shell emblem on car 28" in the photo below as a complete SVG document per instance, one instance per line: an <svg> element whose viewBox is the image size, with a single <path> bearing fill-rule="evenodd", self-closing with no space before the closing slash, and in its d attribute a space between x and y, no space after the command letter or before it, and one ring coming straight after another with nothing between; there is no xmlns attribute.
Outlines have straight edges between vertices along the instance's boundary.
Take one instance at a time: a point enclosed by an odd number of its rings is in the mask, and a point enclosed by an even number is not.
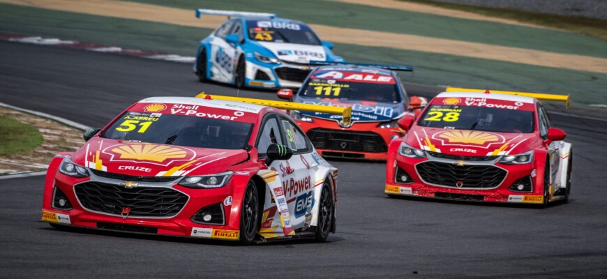
<svg viewBox="0 0 607 279"><path fill-rule="evenodd" d="M405 135L405 143L413 148L457 156L515 155L530 151L538 141L534 133L495 133L417 125Z"/></svg>

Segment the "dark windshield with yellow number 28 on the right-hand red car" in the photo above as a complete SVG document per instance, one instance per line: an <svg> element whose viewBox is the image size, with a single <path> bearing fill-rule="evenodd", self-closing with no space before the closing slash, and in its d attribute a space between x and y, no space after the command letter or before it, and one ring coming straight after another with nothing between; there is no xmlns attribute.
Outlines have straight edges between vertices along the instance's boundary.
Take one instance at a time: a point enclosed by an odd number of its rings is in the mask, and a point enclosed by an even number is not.
<svg viewBox="0 0 607 279"><path fill-rule="evenodd" d="M431 105L419 118L418 126L483 130L502 133L533 133L532 111L462 105Z"/></svg>

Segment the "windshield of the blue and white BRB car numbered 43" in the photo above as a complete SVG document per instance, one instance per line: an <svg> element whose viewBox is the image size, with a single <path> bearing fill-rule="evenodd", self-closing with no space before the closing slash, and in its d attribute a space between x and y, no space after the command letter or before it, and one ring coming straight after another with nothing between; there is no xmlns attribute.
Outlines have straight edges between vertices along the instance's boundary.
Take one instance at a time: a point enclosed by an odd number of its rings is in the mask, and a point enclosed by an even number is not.
<svg viewBox="0 0 607 279"><path fill-rule="evenodd" d="M246 22L248 38L260 42L293 43L300 45L320 45L316 34L305 24L270 20Z"/></svg>

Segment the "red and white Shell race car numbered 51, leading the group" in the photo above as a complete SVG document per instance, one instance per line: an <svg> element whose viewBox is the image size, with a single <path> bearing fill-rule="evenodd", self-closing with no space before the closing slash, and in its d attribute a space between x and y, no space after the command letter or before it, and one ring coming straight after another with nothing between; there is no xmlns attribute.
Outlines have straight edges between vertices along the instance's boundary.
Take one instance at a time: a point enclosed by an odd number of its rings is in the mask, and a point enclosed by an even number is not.
<svg viewBox="0 0 607 279"><path fill-rule="evenodd" d="M273 107L147 98L84 137L50 163L54 227L243 243L334 232L337 169Z"/></svg>

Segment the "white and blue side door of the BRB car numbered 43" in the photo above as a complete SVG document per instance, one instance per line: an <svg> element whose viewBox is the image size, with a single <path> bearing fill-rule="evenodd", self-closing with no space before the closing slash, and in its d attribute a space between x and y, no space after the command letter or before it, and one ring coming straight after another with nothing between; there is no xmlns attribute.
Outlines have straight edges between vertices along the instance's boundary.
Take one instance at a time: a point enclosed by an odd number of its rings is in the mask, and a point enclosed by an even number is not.
<svg viewBox="0 0 607 279"><path fill-rule="evenodd" d="M209 43L211 45L211 79L218 82L232 83L234 81L234 57L237 54L237 46L227 43L225 37L231 34L238 20L228 20L222 24Z"/></svg>

